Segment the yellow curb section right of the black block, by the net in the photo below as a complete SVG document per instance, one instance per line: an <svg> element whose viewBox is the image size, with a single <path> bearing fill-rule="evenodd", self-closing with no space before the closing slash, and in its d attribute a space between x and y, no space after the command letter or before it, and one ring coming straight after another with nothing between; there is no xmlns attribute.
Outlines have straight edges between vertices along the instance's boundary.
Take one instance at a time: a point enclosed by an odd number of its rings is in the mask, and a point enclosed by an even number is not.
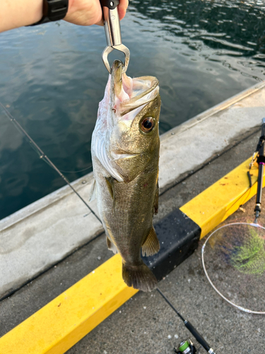
<svg viewBox="0 0 265 354"><path fill-rule="evenodd" d="M236 169L180 208L184 214L201 227L201 238L257 193L256 182L259 169L257 166L251 169L252 188L249 188L247 171L249 171L250 161L251 159L248 159L237 166ZM249 222L253 222L253 220L254 211Z"/></svg>

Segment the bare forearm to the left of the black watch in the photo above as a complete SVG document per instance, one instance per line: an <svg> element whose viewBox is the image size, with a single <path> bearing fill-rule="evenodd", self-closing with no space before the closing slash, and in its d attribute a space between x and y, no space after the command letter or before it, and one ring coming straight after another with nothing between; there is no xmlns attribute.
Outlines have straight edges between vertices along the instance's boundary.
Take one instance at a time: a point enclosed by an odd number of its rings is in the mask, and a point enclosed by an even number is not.
<svg viewBox="0 0 265 354"><path fill-rule="evenodd" d="M1 0L0 32L40 21L42 6L43 0Z"/></svg>

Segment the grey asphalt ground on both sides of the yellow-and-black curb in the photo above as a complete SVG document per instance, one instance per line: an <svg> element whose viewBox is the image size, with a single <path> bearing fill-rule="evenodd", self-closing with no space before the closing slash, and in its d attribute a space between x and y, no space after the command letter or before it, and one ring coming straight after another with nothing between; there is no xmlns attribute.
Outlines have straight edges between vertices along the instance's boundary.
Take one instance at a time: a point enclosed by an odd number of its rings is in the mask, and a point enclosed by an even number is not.
<svg viewBox="0 0 265 354"><path fill-rule="evenodd" d="M257 146L259 136L260 127L254 127L244 135L237 135L229 149L220 152L210 163L168 188L160 195L159 212L154 222L192 200L249 158ZM249 217L252 217L254 198L247 202L245 208ZM230 219L240 220L245 214L238 210ZM261 212L261 224L265 224L264 214ZM192 322L217 354L264 353L265 317L240 312L214 292L201 265L200 251L204 241L202 239L199 249L159 283L160 289L182 316ZM101 234L10 297L1 300L0 336L111 256L105 235ZM158 292L138 292L67 353L172 354L174 346L186 338L192 338L192 335ZM199 344L196 341L194 343L199 348ZM201 353L206 352L201 349Z"/></svg>

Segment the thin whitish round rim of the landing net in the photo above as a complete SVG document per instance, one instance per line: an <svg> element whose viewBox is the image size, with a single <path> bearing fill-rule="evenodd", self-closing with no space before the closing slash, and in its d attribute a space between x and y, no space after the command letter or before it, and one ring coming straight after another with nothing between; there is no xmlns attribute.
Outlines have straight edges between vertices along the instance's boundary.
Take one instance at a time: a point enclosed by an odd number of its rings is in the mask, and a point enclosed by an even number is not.
<svg viewBox="0 0 265 354"><path fill-rule="evenodd" d="M204 263L204 250L206 248L206 244L208 242L208 240L211 238L211 236L213 236L216 232L218 232L220 229L223 229L225 227L229 227L229 226L233 226L233 225L248 225L248 226L252 226L252 227L257 227L257 228L261 228L265 230L265 227L262 227L259 224L255 224L255 223L249 223L249 222L231 222L230 224L225 224L221 227L218 227L218 229L216 229L214 232L212 232L210 234L210 236L208 236L208 238L206 239L206 241L204 242L204 245L201 248L201 263L202 266L204 268L204 273L206 275L206 278L208 279L208 282L211 284L211 286L213 287L214 290L216 290L216 292L218 293L218 295L220 295L220 297L222 297L226 302L228 302L229 304L231 304L233 307L236 307L237 309L240 309L243 312L247 312L248 314L265 314L265 312L261 312L261 311L252 311L251 309L246 309L245 307L241 307L240 305L235 304L234 302L230 301L229 299L227 299L217 288L215 285L213 285L213 282L211 281L211 278L208 275L208 272L206 270L206 266Z"/></svg>

